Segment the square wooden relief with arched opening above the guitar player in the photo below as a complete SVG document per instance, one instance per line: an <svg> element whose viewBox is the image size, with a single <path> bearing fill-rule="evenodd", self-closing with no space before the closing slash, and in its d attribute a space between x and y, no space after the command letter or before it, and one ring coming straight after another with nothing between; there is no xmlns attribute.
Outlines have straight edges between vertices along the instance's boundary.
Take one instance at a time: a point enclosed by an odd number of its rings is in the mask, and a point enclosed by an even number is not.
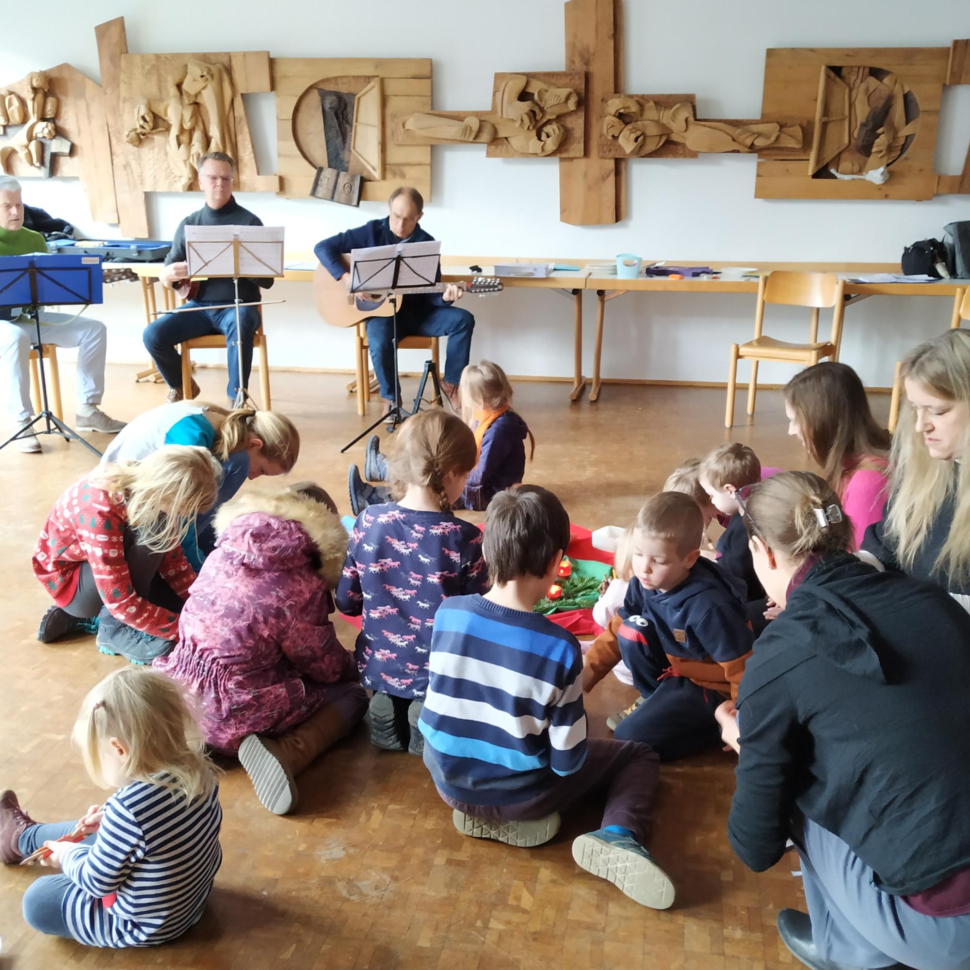
<svg viewBox="0 0 970 970"><path fill-rule="evenodd" d="M431 148L386 137L398 113L431 109L430 60L275 57L271 63L280 194L357 205L409 184L431 197Z"/></svg>

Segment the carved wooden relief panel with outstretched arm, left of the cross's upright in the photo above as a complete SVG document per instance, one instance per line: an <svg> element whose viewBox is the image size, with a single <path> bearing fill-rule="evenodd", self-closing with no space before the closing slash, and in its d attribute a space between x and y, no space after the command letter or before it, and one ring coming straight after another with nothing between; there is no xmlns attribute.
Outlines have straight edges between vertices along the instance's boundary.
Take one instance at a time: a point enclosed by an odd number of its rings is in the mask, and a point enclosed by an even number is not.
<svg viewBox="0 0 970 970"><path fill-rule="evenodd" d="M396 119L410 145L476 142L490 158L583 154L582 73L497 74L490 112L419 112Z"/></svg>

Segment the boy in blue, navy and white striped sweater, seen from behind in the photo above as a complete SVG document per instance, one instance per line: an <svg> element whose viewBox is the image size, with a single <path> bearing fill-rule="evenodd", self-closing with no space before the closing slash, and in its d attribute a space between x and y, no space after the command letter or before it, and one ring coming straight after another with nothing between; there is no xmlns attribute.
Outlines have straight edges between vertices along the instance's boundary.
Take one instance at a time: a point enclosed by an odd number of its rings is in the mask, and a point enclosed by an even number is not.
<svg viewBox="0 0 970 970"><path fill-rule="evenodd" d="M569 517L551 492L500 492L485 516L484 596L438 607L430 682L419 727L437 791L459 831L536 846L560 811L603 793L602 827L572 843L577 864L644 906L666 909L674 889L643 848L657 755L635 741L591 740L576 638L533 612L556 580Z"/></svg>

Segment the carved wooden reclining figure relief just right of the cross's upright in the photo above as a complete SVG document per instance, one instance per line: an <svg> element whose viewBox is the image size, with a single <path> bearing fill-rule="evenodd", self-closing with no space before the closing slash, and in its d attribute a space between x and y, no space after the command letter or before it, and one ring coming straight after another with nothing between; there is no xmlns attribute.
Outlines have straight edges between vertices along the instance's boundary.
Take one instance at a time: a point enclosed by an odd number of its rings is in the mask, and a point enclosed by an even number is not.
<svg viewBox="0 0 970 970"><path fill-rule="evenodd" d="M606 99L599 152L606 157L658 157L698 152L757 152L802 146L801 127L777 121L697 120L693 95L618 94ZM617 150L618 149L618 150Z"/></svg>

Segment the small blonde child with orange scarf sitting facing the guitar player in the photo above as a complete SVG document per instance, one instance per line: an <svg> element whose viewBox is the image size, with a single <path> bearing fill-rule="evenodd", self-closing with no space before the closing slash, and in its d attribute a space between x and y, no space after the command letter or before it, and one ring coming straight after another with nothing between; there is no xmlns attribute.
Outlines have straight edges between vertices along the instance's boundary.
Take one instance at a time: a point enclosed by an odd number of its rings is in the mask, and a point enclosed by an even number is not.
<svg viewBox="0 0 970 970"><path fill-rule="evenodd" d="M469 364L462 372L460 394L462 418L474 431L478 457L457 507L483 511L492 496L522 481L526 472L525 440L528 437L532 446L531 461L535 438L525 421L511 409L512 386L498 364ZM371 481L383 481L386 475L387 460L379 447L380 439L372 435L364 463L364 474ZM347 488L354 515L366 505L387 501L386 490L365 483L356 465L350 467Z"/></svg>

